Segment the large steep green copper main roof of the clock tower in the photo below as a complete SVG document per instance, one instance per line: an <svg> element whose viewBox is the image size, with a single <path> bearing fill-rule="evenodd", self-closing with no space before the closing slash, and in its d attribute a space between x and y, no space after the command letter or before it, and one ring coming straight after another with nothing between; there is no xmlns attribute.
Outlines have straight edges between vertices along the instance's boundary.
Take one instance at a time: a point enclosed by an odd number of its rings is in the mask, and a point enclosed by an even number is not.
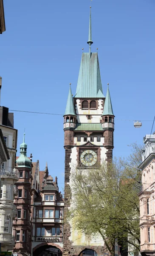
<svg viewBox="0 0 155 256"><path fill-rule="evenodd" d="M103 95L97 52L82 53L75 98L105 98Z"/></svg>

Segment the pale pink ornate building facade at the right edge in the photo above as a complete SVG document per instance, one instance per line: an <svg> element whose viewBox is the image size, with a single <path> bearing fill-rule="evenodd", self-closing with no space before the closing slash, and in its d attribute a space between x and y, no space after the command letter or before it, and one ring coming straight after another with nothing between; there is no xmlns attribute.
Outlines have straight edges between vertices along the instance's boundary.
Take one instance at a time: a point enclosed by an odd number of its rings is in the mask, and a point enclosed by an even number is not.
<svg viewBox="0 0 155 256"><path fill-rule="evenodd" d="M155 132L146 135L142 151L142 188L139 195L141 255L155 255Z"/></svg>

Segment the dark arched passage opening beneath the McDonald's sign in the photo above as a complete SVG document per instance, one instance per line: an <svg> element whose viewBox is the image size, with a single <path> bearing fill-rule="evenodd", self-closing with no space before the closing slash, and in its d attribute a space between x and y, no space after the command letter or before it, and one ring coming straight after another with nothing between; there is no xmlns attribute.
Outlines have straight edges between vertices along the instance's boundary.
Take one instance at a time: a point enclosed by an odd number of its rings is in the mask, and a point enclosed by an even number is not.
<svg viewBox="0 0 155 256"><path fill-rule="evenodd" d="M62 251L55 246L43 245L34 251L33 256L62 256Z"/></svg>

